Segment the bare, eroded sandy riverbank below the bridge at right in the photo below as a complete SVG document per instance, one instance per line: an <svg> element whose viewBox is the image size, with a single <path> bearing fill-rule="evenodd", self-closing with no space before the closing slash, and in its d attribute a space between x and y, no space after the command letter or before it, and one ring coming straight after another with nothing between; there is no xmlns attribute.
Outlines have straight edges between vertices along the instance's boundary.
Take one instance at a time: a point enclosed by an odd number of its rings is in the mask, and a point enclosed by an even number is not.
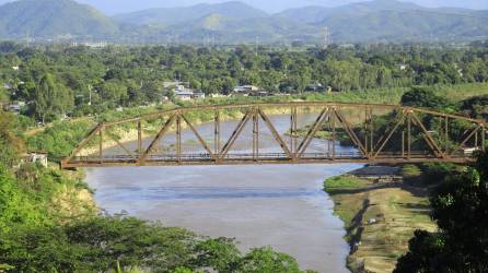
<svg viewBox="0 0 488 273"><path fill-rule="evenodd" d="M397 175L347 174L324 182L334 213L345 223L352 272L392 272L416 229L437 228L429 217L429 191Z"/></svg>

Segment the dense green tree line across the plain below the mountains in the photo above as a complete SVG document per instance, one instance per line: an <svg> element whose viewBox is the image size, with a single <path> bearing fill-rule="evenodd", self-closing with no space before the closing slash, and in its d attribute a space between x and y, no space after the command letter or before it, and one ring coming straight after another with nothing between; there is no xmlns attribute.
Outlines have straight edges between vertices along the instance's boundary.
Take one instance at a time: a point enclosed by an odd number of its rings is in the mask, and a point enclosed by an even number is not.
<svg viewBox="0 0 488 273"><path fill-rule="evenodd" d="M162 83L172 80L189 82L207 94L228 94L243 84L301 93L312 83L340 92L487 82L488 50L414 45L292 51L0 44L0 99L27 102L26 114L37 120L152 104L167 95ZM5 84L12 88L4 90Z"/></svg>

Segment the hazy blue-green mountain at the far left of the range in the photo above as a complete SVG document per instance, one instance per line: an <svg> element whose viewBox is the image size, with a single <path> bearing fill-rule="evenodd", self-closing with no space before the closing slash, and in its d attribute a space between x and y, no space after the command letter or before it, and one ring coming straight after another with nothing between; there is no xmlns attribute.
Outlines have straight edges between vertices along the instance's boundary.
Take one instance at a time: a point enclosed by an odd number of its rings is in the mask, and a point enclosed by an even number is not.
<svg viewBox="0 0 488 273"><path fill-rule="evenodd" d="M2 38L105 37L117 29L117 24L101 12L72 0L21 0L0 7Z"/></svg>

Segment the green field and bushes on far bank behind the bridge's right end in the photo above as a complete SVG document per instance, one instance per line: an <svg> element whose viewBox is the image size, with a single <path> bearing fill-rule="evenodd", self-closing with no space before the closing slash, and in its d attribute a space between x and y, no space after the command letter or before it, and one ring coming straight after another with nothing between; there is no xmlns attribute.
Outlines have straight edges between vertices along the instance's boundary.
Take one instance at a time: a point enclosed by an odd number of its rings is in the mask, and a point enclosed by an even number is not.
<svg viewBox="0 0 488 273"><path fill-rule="evenodd" d="M454 114L458 116L469 116L477 119L486 119L488 117L488 108L486 102L488 100L488 95L486 95L487 90L485 84L479 84L475 88L472 84L466 85L468 92L464 93L462 85L444 86L440 88L439 86L414 86L410 90L397 90L392 92L392 100L386 102L387 104L402 104L404 106L417 107L437 110L439 112ZM371 93L370 93L371 92ZM371 97L376 97L380 93L373 91L365 92L365 94L371 94ZM461 94L460 94L461 93ZM356 95L352 95L356 94ZM396 102L396 96L399 100ZM370 98L371 98L370 97ZM450 99L455 97L455 99ZM316 98L316 97L314 97ZM325 98L321 97L323 100L333 102L347 102L347 103L370 103L369 99L360 99L358 92L356 93L337 93L337 96L332 99L332 97ZM344 99L344 100L342 100ZM373 104L377 104L381 98L377 98ZM457 100L456 100L457 99ZM387 99L386 99L387 100ZM351 110L353 112L353 110ZM398 111L390 112L377 112L374 114L373 128L374 128L374 139L379 140L382 135L388 134L392 128L398 122L399 117L403 114ZM360 115L359 115L360 117ZM434 119L429 115L418 114L418 117L427 128L427 130L434 132L431 136L438 141L443 147L453 149L455 143L460 143L465 132L473 130L472 123L463 120L451 119L448 122L449 126L449 140L443 136L443 131L445 130L445 123L439 119ZM359 136L359 139L364 139L365 134L369 136L369 131L364 130L364 120L355 120L353 115L349 117L349 122L352 123L352 130ZM406 131L406 122L403 122L393 139L402 139L402 131ZM299 129L297 132L298 136L304 136L309 132L311 124L305 126L303 129ZM288 132L289 133L289 132ZM413 151L428 151L428 144L422 136L422 131L420 128L414 126L411 128L411 150ZM324 122L317 133L315 134L318 139L332 139L333 129L327 122ZM352 145L349 134L342 126L336 124L336 139L340 141L341 145ZM387 152L399 152L402 150L402 142L390 141L385 144L383 151Z"/></svg>

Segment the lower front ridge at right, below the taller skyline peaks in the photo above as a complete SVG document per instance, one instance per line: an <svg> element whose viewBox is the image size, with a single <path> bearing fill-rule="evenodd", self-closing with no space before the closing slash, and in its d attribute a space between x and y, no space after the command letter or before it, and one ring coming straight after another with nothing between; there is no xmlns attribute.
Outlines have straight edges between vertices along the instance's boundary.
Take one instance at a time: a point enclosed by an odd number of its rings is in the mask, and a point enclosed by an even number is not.
<svg viewBox="0 0 488 273"><path fill-rule="evenodd" d="M428 11L377 11L334 14L317 25L340 41L450 41L486 38L488 19Z"/></svg>

